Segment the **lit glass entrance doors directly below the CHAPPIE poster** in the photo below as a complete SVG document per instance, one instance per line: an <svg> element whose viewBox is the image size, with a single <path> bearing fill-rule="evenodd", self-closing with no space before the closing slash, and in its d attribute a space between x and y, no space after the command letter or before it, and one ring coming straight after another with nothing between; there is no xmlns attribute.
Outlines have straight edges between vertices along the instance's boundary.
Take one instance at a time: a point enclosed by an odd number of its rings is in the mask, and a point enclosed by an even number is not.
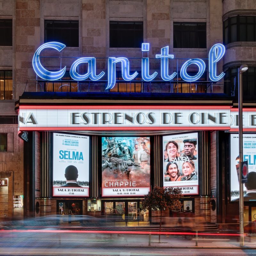
<svg viewBox="0 0 256 256"><path fill-rule="evenodd" d="M124 221L148 221L148 210L142 211L140 200L102 200L102 214L119 216Z"/></svg>

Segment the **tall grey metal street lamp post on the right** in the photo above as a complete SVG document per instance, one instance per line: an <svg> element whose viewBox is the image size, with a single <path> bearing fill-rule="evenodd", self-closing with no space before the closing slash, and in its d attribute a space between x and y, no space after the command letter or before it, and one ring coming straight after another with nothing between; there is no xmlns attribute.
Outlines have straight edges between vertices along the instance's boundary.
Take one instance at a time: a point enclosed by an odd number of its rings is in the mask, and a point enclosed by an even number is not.
<svg viewBox="0 0 256 256"><path fill-rule="evenodd" d="M242 183L243 162L243 79L242 73L248 69L243 64L238 68L238 130L239 130L239 220L240 245L244 245L244 184Z"/></svg>

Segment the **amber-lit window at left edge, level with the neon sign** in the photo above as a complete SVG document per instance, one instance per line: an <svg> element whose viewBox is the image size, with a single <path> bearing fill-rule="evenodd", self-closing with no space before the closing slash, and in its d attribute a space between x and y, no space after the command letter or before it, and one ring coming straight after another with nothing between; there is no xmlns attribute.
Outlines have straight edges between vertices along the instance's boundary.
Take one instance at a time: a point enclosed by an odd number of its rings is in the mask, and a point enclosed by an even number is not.
<svg viewBox="0 0 256 256"><path fill-rule="evenodd" d="M0 70L0 100L12 100L11 70Z"/></svg>

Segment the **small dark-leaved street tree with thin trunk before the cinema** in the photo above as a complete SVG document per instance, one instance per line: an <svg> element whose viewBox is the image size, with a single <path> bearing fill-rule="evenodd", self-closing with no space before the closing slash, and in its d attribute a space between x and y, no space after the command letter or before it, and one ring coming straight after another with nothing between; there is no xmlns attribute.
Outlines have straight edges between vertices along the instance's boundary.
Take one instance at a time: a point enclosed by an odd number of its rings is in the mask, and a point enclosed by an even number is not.
<svg viewBox="0 0 256 256"><path fill-rule="evenodd" d="M152 191L148 192L142 201L142 210L152 209L154 211L160 211L160 227L159 232L162 228L162 211L166 208L170 210L180 209L180 198L182 192L180 188L161 188L155 187ZM160 243L160 234L159 234Z"/></svg>

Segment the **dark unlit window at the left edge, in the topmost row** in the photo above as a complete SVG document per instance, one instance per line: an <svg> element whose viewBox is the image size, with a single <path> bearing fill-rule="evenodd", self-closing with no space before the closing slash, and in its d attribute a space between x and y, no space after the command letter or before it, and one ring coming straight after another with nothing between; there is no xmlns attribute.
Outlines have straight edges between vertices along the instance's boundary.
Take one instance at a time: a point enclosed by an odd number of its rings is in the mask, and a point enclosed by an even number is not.
<svg viewBox="0 0 256 256"><path fill-rule="evenodd" d="M12 20L0 19L0 45L12 46Z"/></svg>

